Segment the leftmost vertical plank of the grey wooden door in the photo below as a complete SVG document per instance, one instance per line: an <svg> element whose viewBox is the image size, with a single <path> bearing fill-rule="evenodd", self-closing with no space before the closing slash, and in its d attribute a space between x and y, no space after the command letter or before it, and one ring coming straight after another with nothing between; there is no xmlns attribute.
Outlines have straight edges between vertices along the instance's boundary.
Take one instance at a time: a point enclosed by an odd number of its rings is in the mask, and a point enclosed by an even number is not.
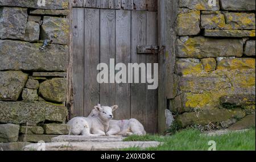
<svg viewBox="0 0 256 162"><path fill-rule="evenodd" d="M72 116L84 115L84 9L73 9L73 94Z"/></svg>

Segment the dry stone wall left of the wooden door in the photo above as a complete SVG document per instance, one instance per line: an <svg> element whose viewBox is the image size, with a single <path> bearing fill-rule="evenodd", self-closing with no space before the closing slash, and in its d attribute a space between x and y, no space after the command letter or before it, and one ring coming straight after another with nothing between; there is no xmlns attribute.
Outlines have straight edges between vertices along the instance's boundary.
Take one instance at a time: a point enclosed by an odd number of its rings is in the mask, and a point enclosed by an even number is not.
<svg viewBox="0 0 256 162"><path fill-rule="evenodd" d="M69 4L45 2L0 0L0 143L10 146L69 130Z"/></svg>

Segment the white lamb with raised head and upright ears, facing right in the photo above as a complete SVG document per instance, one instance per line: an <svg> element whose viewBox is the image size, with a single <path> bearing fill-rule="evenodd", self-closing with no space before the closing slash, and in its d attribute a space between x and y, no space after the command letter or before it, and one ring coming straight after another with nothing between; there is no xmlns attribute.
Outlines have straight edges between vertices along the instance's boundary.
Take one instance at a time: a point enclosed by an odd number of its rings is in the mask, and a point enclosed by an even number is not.
<svg viewBox="0 0 256 162"><path fill-rule="evenodd" d="M97 117L90 114L87 118L75 117L67 124L71 127L72 135L82 136L105 136L105 132L109 129L109 122L113 119L112 112L118 108L117 105L108 106L94 106L94 113L97 112Z"/></svg>

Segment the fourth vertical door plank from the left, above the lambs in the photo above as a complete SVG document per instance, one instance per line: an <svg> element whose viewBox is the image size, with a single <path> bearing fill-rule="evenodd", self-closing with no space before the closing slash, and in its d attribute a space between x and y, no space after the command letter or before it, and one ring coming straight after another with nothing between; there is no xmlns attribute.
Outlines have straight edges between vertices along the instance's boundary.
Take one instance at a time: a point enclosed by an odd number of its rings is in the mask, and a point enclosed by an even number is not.
<svg viewBox="0 0 256 162"><path fill-rule="evenodd" d="M127 66L131 62L131 11L116 11L115 29L116 63ZM115 84L115 104L119 107L115 112L115 119L130 119L130 88L128 82Z"/></svg>

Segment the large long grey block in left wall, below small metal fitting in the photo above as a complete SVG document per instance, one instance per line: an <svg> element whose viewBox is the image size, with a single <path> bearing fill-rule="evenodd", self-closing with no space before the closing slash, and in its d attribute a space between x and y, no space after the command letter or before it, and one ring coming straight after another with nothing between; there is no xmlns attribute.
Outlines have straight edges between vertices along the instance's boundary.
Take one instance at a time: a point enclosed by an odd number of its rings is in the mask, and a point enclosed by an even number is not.
<svg viewBox="0 0 256 162"><path fill-rule="evenodd" d="M67 45L48 45L26 41L0 40L0 70L65 71L68 65Z"/></svg>

